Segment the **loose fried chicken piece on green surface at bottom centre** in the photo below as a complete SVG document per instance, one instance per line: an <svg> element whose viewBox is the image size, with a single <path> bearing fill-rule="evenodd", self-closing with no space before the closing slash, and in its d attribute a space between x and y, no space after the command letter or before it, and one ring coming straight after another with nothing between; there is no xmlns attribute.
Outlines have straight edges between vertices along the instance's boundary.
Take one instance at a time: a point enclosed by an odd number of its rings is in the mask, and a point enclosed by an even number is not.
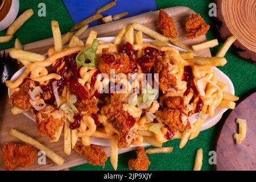
<svg viewBox="0 0 256 182"><path fill-rule="evenodd" d="M148 166L150 166L150 161L148 160L144 147L138 148L137 159L130 159L128 161L128 166L130 170L147 171Z"/></svg>

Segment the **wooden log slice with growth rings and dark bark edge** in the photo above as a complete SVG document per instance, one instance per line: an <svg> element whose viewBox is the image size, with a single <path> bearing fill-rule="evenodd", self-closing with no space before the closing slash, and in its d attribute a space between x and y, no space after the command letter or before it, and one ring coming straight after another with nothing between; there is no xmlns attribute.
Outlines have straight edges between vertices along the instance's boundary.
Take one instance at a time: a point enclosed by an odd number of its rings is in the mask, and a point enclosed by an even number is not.
<svg viewBox="0 0 256 182"><path fill-rule="evenodd" d="M256 0L215 0L217 30L223 40L236 35L236 53L256 63Z"/></svg>

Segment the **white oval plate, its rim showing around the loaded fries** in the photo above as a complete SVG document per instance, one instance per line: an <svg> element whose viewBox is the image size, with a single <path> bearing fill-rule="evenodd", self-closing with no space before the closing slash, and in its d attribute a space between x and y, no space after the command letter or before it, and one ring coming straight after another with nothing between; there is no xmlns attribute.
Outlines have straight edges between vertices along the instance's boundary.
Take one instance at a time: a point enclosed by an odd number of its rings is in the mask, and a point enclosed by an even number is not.
<svg viewBox="0 0 256 182"><path fill-rule="evenodd" d="M105 38L98 38L98 40L103 40L106 43L114 42L114 39L115 39L115 37L113 37L113 36L112 37L105 37ZM152 42L154 42L154 40L143 39L143 42L152 43ZM170 44L170 46L172 46L172 45ZM177 48L179 51L185 51L184 49L181 49L179 47L176 47L176 46L173 46L173 47ZM22 69L19 69L19 71L14 74L14 76L11 78L11 80L16 80L20 75L22 75L22 73L25 71L25 69L26 69L26 67L23 67ZM229 77L226 76L223 72L221 72L216 67L213 68L213 72L214 72L217 80L221 80L221 82L224 82L226 85L228 85L225 92L234 94L234 85L233 85L232 81L229 79ZM10 97L10 92L11 92L11 90L8 89L9 97ZM225 113L226 110L228 110L228 109L217 107L217 109L214 112L214 115L212 117L208 117L205 120L203 126L201 127L201 131L207 130L210 127L216 125L216 123L218 121L220 121L220 119L222 117L222 114ZM26 112L26 113L23 113L23 114L26 115L28 118L32 119L32 121L35 122L35 117L32 113ZM91 137L91 142L92 142L92 144L97 144L97 145L100 145L100 146L110 146L110 140L109 139ZM141 146L148 146L148 144L143 143Z"/></svg>

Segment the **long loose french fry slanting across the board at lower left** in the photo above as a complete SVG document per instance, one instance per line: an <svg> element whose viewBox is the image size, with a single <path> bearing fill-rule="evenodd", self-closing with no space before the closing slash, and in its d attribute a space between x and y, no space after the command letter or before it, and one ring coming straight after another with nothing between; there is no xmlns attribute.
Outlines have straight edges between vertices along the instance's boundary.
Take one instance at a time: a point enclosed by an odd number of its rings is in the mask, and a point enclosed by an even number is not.
<svg viewBox="0 0 256 182"><path fill-rule="evenodd" d="M13 137L16 137L23 142L29 143L32 146L34 146L36 149L39 151L44 151L46 152L46 156L51 159L53 162L55 162L58 165L62 165L64 163L64 159L61 158L61 156L57 155L55 152L53 152L50 148L44 146L42 143L39 143L37 140L34 138L31 138L30 136L23 134L19 132L18 130L11 129L10 130L10 135L13 135Z"/></svg>

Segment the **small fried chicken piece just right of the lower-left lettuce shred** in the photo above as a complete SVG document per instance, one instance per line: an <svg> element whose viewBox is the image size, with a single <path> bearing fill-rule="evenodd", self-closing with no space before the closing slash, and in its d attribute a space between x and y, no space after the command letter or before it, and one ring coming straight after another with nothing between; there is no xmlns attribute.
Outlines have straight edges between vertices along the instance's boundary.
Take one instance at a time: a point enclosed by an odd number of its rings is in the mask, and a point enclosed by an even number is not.
<svg viewBox="0 0 256 182"><path fill-rule="evenodd" d="M77 110L81 113L81 114L85 114L85 113L94 113L96 114L98 112L98 101L97 98L95 97L91 97L91 98L86 98L83 99L81 101L77 101Z"/></svg>

